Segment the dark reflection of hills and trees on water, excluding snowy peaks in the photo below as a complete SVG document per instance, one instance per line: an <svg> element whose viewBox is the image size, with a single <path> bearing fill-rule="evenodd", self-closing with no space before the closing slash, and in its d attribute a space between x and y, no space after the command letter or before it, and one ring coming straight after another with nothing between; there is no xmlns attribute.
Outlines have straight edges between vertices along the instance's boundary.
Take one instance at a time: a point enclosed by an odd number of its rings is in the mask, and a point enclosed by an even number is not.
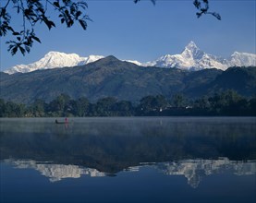
<svg viewBox="0 0 256 203"><path fill-rule="evenodd" d="M211 120L211 119L210 119ZM256 126L190 118L76 119L64 125L1 122L1 160L13 157L116 173L140 162L255 160ZM12 125L10 125L12 124Z"/></svg>

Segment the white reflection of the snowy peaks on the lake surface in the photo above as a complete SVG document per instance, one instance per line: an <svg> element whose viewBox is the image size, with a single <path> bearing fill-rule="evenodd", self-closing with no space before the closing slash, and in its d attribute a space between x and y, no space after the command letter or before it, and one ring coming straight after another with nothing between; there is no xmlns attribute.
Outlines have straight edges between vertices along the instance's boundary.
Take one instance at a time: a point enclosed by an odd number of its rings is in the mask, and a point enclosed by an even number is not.
<svg viewBox="0 0 256 203"><path fill-rule="evenodd" d="M97 169L80 167L78 165L54 164L50 162L38 162L33 160L5 160L19 169L34 169L39 171L43 176L49 178L51 182L61 181L65 178L80 178L82 175L91 177L103 177L104 172ZM182 175L187 178L188 184L196 188L201 182L202 177L218 174L233 173L236 175L253 175L256 174L256 165L254 161L230 161L227 158L219 160L183 160L173 162L159 162L141 164L139 166L128 167L124 170L127 172L139 172L140 167L149 166L155 168L166 175Z"/></svg>

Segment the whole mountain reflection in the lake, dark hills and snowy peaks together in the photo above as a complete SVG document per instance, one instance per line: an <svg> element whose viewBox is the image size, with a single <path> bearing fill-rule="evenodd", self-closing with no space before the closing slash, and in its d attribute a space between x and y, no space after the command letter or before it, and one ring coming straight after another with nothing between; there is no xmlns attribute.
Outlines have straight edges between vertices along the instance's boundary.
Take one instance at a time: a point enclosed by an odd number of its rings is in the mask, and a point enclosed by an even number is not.
<svg viewBox="0 0 256 203"><path fill-rule="evenodd" d="M250 117L1 119L0 158L51 182L152 167L196 188L206 175L255 175L255 124Z"/></svg>

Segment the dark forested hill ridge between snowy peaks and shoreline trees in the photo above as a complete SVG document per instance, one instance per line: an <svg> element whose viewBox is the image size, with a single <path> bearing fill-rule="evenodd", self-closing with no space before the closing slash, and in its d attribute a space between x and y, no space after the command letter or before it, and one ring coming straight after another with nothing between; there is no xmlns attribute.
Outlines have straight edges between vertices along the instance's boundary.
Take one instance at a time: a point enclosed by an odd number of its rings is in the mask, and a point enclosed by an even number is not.
<svg viewBox="0 0 256 203"><path fill-rule="evenodd" d="M0 98L24 103L36 99L50 102L61 93L73 99L86 97L91 102L104 97L138 102L145 96L159 94L170 98L182 93L189 98L196 98L230 89L244 96L256 92L255 67L230 67L226 71L214 68L188 71L137 66L120 61L115 56L73 68L0 74ZM226 84L230 80L232 82Z"/></svg>

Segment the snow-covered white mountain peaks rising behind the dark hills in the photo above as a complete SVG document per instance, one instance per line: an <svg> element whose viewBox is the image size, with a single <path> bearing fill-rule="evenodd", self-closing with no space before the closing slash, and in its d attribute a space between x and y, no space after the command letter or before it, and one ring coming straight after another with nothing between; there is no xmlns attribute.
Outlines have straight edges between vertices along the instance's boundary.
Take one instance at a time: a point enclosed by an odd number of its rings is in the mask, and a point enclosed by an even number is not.
<svg viewBox="0 0 256 203"><path fill-rule="evenodd" d="M39 69L51 69L56 67L72 67L86 65L95 62L103 55L89 55L81 57L78 54L65 54L59 52L49 52L39 61L29 65L17 65L8 68L5 72L14 74L17 72L27 73ZM165 54L154 61L140 63L135 60L124 60L138 66L159 66L177 67L187 70L201 70L205 68L218 68L226 70L230 66L256 66L256 54L235 52L228 58L214 56L202 52L194 42L189 42L181 54Z"/></svg>

